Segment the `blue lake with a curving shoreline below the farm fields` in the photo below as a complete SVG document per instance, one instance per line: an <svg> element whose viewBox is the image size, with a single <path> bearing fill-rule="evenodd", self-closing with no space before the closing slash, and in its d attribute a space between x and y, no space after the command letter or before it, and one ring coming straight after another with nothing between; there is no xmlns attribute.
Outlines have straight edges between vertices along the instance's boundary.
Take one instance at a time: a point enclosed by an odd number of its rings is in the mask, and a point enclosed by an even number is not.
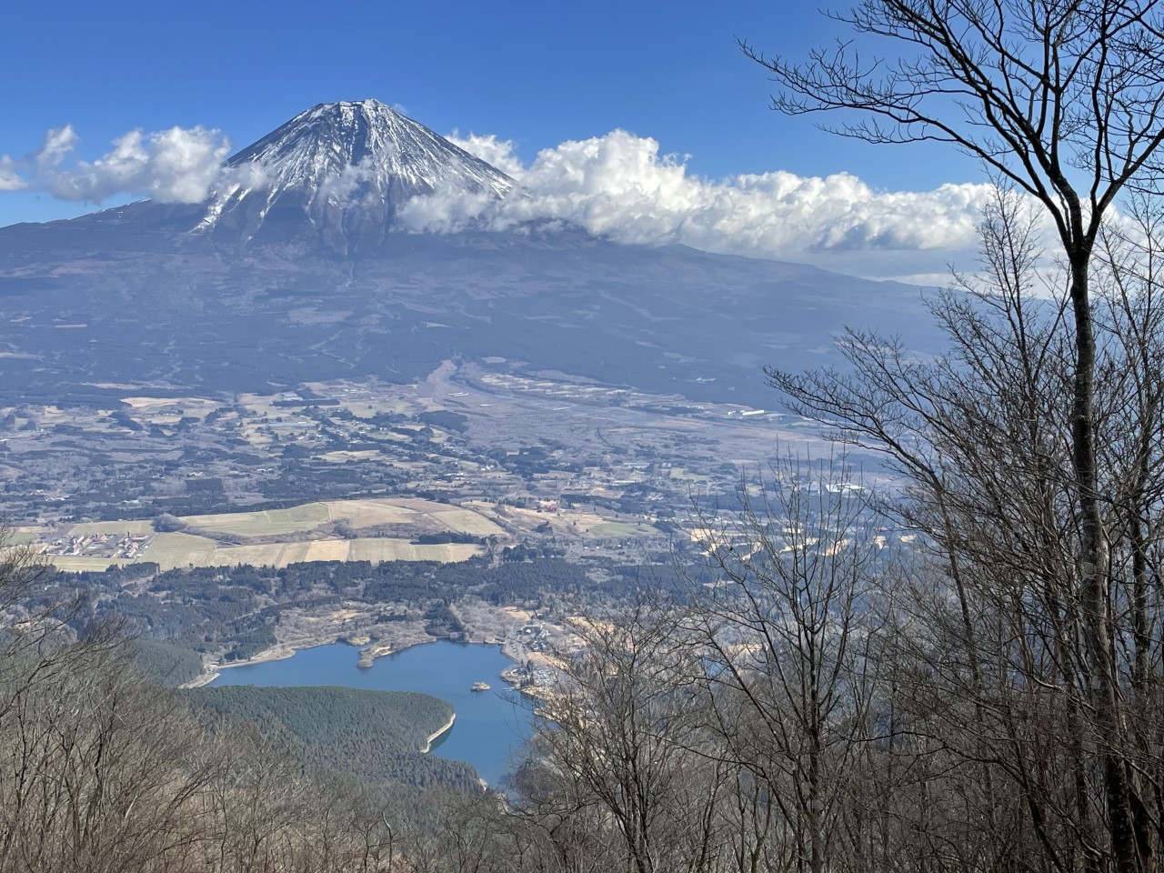
<svg viewBox="0 0 1164 873"><path fill-rule="evenodd" d="M223 669L214 686L342 686L381 691L424 691L448 701L456 724L433 745L441 758L468 761L482 779L498 787L513 755L528 736L531 711L513 701L499 674L512 662L497 646L445 640L405 648L360 668L360 652L336 643L307 648L282 661ZM488 682L490 691L471 691Z"/></svg>

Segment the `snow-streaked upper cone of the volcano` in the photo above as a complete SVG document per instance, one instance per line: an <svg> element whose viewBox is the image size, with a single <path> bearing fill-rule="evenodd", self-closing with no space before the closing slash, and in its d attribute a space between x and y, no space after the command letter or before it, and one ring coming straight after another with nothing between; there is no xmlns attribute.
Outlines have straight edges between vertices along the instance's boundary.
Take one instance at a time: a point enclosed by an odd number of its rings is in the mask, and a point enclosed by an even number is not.
<svg viewBox="0 0 1164 873"><path fill-rule="evenodd" d="M503 197L513 180L378 100L320 104L232 157L203 232L278 240L305 229L329 248L378 246L418 194Z"/></svg>

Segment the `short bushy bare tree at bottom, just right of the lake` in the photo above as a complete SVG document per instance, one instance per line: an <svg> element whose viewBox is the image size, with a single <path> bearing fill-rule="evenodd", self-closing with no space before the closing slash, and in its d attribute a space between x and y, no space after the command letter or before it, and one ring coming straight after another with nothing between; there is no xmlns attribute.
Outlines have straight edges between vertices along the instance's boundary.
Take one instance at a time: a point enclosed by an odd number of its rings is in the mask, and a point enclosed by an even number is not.
<svg viewBox="0 0 1164 873"><path fill-rule="evenodd" d="M526 819L591 870L715 870L731 768L707 729L698 650L673 610L647 601L576 630L585 654L545 702L519 781Z"/></svg>

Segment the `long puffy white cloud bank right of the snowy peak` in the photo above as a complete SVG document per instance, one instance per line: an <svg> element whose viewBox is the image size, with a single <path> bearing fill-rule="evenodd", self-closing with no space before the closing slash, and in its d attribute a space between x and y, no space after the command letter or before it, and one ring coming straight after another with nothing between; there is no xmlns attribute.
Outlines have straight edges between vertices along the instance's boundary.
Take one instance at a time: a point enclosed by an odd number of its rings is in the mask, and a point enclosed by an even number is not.
<svg viewBox="0 0 1164 873"><path fill-rule="evenodd" d="M705 179L659 143L625 130L569 141L525 166L513 143L455 136L467 151L520 183L504 201L436 192L416 198L399 220L412 230L448 232L470 220L505 229L562 221L620 242L683 243L717 253L809 261L865 275L938 271L975 246L988 185L878 192L850 173L825 178L773 171Z"/></svg>

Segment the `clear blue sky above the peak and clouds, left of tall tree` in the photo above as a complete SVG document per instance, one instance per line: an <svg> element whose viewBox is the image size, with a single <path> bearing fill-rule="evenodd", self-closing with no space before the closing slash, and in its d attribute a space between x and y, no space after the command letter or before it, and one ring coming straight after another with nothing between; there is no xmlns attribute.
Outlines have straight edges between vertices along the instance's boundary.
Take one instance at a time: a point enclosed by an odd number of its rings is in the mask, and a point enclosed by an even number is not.
<svg viewBox="0 0 1164 873"><path fill-rule="evenodd" d="M771 83L734 37L803 56L843 33L811 3L47 0L10 5L5 28L0 156L17 161L66 123L88 161L129 130L175 126L217 128L237 149L314 104L372 97L438 133L509 140L525 163L623 129L705 179L846 172L874 192L981 180L946 149L842 140L768 108ZM0 226L92 208L5 192Z"/></svg>

